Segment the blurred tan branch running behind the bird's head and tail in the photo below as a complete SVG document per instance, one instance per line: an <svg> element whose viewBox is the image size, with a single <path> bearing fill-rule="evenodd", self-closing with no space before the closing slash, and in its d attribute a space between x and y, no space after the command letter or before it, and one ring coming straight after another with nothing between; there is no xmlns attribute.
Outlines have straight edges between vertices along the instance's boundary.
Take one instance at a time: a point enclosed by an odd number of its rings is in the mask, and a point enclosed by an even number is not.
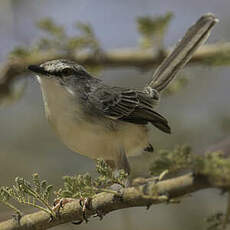
<svg viewBox="0 0 230 230"><path fill-rule="evenodd" d="M36 52L23 58L9 58L8 62L2 64L0 68L0 97L7 96L11 91L11 83L20 75L27 73L27 66L39 64L47 60L57 58L72 59L82 65L108 67L128 67L152 68L159 65L168 55L165 53L153 55L152 52L140 49L118 49L111 50L99 56L94 54L79 54L75 56L65 56L52 52ZM190 63L199 65L229 65L230 64L230 43L209 44L200 47L193 55Z"/></svg>

